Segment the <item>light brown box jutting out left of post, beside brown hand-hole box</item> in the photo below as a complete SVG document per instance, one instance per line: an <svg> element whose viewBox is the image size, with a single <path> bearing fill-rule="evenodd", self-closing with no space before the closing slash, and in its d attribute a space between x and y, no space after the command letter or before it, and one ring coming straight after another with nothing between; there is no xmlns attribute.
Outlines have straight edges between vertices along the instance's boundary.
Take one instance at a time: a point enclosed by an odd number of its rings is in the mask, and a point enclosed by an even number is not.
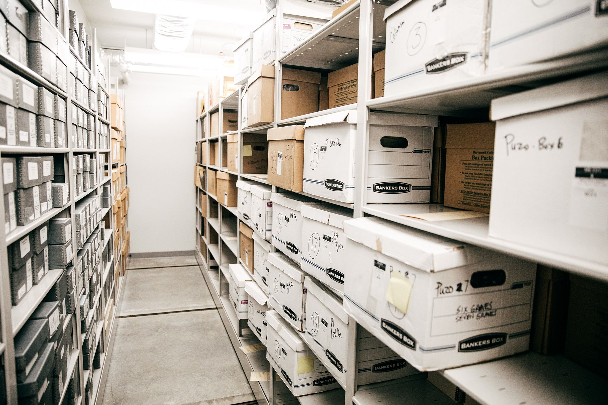
<svg viewBox="0 0 608 405"><path fill-rule="evenodd" d="M274 121L274 66L260 66L247 81L247 124Z"/></svg>

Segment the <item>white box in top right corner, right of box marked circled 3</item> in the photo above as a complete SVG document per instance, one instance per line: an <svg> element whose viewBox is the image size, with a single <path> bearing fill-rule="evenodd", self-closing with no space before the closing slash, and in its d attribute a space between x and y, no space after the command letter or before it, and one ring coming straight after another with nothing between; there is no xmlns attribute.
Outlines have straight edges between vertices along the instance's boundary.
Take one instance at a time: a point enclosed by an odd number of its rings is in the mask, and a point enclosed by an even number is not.
<svg viewBox="0 0 608 405"><path fill-rule="evenodd" d="M492 3L488 70L606 46L607 9L605 2L589 0Z"/></svg>

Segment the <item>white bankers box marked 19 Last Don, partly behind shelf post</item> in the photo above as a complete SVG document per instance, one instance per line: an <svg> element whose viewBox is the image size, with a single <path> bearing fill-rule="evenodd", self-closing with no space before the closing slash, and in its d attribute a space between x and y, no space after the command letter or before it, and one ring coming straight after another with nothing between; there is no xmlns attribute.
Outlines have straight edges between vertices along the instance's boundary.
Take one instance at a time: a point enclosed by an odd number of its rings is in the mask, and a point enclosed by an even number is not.
<svg viewBox="0 0 608 405"><path fill-rule="evenodd" d="M306 313L309 314L304 339L340 385L345 387L347 373L353 372L346 368L350 318L342 307L342 299L313 277L307 276L304 286ZM369 336L368 333L358 336L358 384L379 383L420 373L378 338Z"/></svg>

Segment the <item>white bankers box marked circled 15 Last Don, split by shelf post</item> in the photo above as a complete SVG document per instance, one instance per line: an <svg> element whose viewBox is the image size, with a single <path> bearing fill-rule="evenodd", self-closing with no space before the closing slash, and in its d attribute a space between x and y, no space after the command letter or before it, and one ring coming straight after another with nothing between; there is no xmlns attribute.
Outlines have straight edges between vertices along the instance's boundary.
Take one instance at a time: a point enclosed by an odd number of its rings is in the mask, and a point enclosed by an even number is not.
<svg viewBox="0 0 608 405"><path fill-rule="evenodd" d="M437 116L372 112L369 123L367 202L428 202ZM354 202L357 112L310 118L304 128L303 191Z"/></svg>

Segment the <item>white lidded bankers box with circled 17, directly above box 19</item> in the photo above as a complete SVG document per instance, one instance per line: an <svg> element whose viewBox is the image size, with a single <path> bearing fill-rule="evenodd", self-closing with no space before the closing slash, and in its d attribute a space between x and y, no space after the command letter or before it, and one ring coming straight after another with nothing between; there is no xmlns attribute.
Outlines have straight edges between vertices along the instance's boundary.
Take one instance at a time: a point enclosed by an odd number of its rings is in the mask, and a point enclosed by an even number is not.
<svg viewBox="0 0 608 405"><path fill-rule="evenodd" d="M348 251L342 222L353 210L330 204L302 207L302 270L338 291L344 291Z"/></svg>

